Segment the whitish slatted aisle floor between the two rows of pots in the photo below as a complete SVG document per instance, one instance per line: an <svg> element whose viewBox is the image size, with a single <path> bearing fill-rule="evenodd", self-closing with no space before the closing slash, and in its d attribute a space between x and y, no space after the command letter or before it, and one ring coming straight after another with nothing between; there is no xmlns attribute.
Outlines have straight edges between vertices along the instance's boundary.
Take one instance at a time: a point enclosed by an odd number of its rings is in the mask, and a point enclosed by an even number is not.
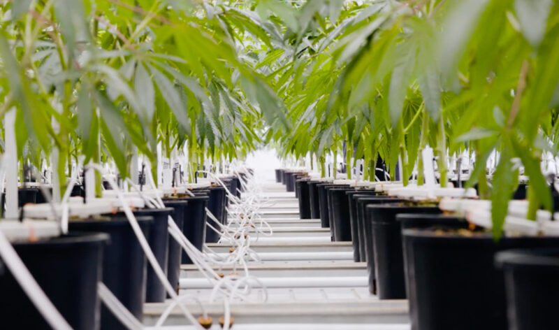
<svg viewBox="0 0 559 330"><path fill-rule="evenodd" d="M264 195L275 204L261 209L261 215L273 228L273 235L260 237L251 247L260 261L249 263L249 273L262 282L249 294L248 303L233 301L233 329L410 329L407 301L380 301L369 293L365 263L353 261L350 242L331 242L330 231L321 229L320 220L300 220L293 192L285 192L279 183L263 184ZM217 253L227 253L225 244L209 244ZM222 271L231 271L222 269ZM217 320L223 315L223 303L209 301L212 287L192 265L182 265L180 294L198 297L208 314ZM143 322L153 326L167 303L147 303ZM201 315L192 302L187 307ZM189 329L178 308L165 323L166 329ZM182 325L182 327L180 327ZM149 329L149 328L148 328ZM212 329L221 329L214 322Z"/></svg>

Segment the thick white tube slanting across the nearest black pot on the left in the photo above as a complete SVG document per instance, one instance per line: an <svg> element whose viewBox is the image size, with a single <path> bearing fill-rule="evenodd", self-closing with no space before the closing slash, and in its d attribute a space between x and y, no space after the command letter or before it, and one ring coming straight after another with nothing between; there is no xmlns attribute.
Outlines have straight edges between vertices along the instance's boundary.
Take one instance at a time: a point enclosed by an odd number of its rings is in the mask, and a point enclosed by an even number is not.
<svg viewBox="0 0 559 330"><path fill-rule="evenodd" d="M48 296L33 278L33 275L31 275L29 269L27 269L22 259L17 255L17 252L15 252L2 231L0 231L0 257L23 292L27 294L31 303L37 308L50 327L55 330L72 330L70 324L64 320L64 317L48 299Z"/></svg>

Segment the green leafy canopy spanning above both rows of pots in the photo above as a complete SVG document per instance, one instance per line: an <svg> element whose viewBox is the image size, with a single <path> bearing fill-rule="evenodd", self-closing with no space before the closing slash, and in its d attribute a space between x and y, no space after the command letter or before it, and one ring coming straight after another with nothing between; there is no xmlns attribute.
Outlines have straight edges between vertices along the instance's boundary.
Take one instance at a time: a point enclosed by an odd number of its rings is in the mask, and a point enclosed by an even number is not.
<svg viewBox="0 0 559 330"><path fill-rule="evenodd" d="M419 185L427 145L442 185L467 153L498 236L521 171L529 217L552 208L558 36L553 0L4 0L0 116L22 162L56 150L60 185L73 163L129 176L158 143L194 168L268 143L323 174L344 145L367 178L381 157Z"/></svg>

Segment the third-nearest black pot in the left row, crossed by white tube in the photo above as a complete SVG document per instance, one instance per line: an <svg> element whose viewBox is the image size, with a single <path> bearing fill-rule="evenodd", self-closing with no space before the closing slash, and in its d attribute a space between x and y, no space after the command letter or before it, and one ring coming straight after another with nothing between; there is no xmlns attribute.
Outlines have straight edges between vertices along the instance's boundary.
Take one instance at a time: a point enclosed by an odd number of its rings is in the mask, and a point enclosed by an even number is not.
<svg viewBox="0 0 559 330"><path fill-rule="evenodd" d="M134 210L136 217L147 216L153 217L153 224L150 226L150 234L148 242L157 259L157 263L164 271L168 267L168 251L169 251L169 231L168 216L173 214L173 208L152 208L143 210ZM157 278L155 271L151 265L147 266L145 302L146 303L162 303L167 296L163 283Z"/></svg>

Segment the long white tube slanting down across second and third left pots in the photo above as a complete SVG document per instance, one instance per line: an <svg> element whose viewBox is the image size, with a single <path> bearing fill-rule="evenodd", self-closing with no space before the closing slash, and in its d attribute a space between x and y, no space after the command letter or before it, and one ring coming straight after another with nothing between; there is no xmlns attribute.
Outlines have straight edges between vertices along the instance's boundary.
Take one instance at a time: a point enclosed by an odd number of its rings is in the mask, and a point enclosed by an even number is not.
<svg viewBox="0 0 559 330"><path fill-rule="evenodd" d="M103 167L99 166L99 164L88 164L87 166L90 168L95 168L97 171L99 171L102 174L104 173ZM159 278L161 283L164 285L167 294L171 297L171 299L177 300L178 296L177 293L175 292L175 289L173 289L173 287L170 285L164 271L161 269L161 266L159 266L159 264L157 263L157 259L155 258L152 249L150 248L150 244L147 243L147 240L145 239L145 236L142 232L142 229L140 228L140 225L138 224L138 221L136 220L136 217L134 217L130 209L130 206L128 205L128 203L126 203L126 200L124 199L124 195L119 190L118 185L114 180L112 180L112 178L108 177L107 180L111 185L112 189L115 189L115 192L117 192L118 199L122 203L124 214L126 215L126 218L129 220L129 223L132 227L134 234L136 235L136 238L138 238L138 242L140 243L140 246L142 247L142 250L144 251L147 257L147 261L150 262L150 265L152 266L155 274L157 275L157 278ZM181 303L178 303L178 306L180 310L182 310L182 312L184 313L184 316L187 317L187 320L192 322L192 324L194 325L198 325L199 329L203 329L203 327L201 327L201 325L198 324L197 320L189 312L189 310L187 310L187 308L185 308Z"/></svg>

